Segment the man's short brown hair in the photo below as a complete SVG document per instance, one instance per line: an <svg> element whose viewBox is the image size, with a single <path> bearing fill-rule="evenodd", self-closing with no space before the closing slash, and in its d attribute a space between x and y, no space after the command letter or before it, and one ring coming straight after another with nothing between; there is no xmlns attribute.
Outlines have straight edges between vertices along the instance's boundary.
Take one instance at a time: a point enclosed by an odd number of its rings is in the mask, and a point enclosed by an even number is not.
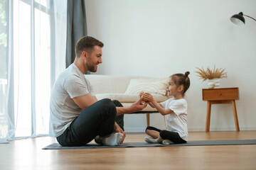
<svg viewBox="0 0 256 170"><path fill-rule="evenodd" d="M75 55L79 57L83 51L86 52L92 52L94 49L94 46L98 45L100 47L103 47L104 44L100 40L97 40L96 38L92 38L90 36L84 36L78 40L78 42L75 44Z"/></svg>

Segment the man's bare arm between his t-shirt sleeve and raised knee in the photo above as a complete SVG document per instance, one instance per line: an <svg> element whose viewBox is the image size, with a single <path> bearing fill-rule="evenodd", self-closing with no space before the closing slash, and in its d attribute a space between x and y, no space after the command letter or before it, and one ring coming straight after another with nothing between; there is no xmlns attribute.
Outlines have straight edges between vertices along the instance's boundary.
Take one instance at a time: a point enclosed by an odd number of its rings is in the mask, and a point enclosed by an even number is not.
<svg viewBox="0 0 256 170"><path fill-rule="evenodd" d="M90 94L85 94L84 96L78 96L73 98L73 101L84 110L88 106L91 106L93 103L97 101L97 98L95 96L92 96Z"/></svg>

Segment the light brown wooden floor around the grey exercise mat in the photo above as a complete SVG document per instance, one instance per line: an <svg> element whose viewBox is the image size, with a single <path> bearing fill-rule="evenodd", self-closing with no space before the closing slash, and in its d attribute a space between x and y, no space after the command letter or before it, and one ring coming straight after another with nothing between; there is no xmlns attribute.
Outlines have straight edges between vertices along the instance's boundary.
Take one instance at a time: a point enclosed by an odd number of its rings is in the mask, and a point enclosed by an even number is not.
<svg viewBox="0 0 256 170"><path fill-rule="evenodd" d="M128 133L125 142L142 142ZM189 132L189 140L249 140L256 131ZM256 169L256 145L43 150L53 137L0 144L0 169Z"/></svg>

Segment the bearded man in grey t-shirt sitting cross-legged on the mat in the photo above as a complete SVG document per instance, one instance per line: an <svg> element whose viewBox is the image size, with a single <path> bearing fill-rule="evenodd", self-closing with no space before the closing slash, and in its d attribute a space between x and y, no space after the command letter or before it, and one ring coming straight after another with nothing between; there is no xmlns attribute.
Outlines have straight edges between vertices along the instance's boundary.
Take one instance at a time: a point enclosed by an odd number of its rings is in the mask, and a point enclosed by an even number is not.
<svg viewBox="0 0 256 170"><path fill-rule="evenodd" d="M103 46L95 38L82 37L75 45L75 61L55 81L50 97L49 132L62 146L86 145L93 139L103 145L122 144L123 114L141 111L148 104L142 104L142 98L129 108L108 98L97 101L84 74L97 72Z"/></svg>

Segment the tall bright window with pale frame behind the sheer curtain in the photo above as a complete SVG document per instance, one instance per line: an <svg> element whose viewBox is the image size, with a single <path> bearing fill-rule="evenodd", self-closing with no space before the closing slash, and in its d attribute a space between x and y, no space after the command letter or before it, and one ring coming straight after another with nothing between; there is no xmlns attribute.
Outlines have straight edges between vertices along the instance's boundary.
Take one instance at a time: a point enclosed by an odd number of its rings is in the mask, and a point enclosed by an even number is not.
<svg viewBox="0 0 256 170"><path fill-rule="evenodd" d="M11 137L48 134L52 13L49 0L13 0Z"/></svg>

